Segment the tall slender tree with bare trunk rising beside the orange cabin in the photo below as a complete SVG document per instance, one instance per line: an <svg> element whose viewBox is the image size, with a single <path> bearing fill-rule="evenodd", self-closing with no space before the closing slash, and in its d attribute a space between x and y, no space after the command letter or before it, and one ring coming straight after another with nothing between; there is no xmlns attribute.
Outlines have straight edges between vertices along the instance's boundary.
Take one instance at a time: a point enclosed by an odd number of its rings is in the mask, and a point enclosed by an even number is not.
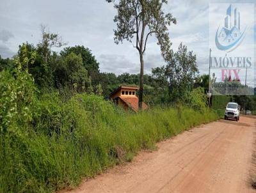
<svg viewBox="0 0 256 193"><path fill-rule="evenodd" d="M114 8L118 11L115 16L117 29L115 29L115 43L122 43L123 40L134 41L134 47L140 54L140 91L139 107L143 101L143 70L147 40L149 36L156 35L157 44L160 46L164 59L170 58L170 43L168 26L176 24L176 19L171 13L163 12L163 4L166 0L106 0L114 3ZM116 3L115 3L116 2ZM134 40L135 36L135 40Z"/></svg>

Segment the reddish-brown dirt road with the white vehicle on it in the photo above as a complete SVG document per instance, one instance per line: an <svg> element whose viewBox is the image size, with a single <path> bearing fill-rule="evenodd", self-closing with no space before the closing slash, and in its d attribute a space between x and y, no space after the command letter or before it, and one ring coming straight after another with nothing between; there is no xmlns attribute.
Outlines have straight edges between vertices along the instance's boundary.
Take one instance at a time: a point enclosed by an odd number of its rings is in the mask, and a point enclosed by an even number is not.
<svg viewBox="0 0 256 193"><path fill-rule="evenodd" d="M256 117L193 128L71 192L256 192L249 185Z"/></svg>

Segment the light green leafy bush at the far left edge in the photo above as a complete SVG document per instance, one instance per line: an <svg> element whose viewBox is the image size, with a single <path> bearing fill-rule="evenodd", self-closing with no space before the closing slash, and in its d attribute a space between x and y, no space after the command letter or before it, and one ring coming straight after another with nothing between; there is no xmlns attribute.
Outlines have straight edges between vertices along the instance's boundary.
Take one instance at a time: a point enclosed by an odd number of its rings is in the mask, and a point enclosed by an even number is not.
<svg viewBox="0 0 256 193"><path fill-rule="evenodd" d="M35 102L33 78L26 72L0 72L0 132L10 125L31 121L31 104Z"/></svg>

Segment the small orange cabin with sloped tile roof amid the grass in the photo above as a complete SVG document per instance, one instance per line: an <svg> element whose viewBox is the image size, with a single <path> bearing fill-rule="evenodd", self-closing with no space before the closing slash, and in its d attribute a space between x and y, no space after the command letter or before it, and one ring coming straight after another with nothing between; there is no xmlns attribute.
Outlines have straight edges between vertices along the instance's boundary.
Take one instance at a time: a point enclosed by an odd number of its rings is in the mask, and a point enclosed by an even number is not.
<svg viewBox="0 0 256 193"><path fill-rule="evenodd" d="M138 112L139 98L136 96L137 87L134 86L120 86L110 95L110 98L116 105L122 106L125 110L132 110ZM142 103L142 109L147 109L148 106Z"/></svg>

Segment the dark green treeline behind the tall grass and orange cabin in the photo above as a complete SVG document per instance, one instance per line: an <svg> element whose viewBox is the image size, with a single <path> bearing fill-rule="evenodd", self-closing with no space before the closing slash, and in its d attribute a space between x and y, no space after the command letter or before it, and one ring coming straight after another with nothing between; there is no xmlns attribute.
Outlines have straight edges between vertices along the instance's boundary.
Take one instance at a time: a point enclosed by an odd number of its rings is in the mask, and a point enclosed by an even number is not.
<svg viewBox="0 0 256 193"><path fill-rule="evenodd" d="M60 53L52 51L53 47L64 45L60 35L42 26L42 40L36 45L22 43L13 58L0 56L0 71L20 68L33 77L40 93L57 89L69 97L86 92L109 98L111 91L120 85L138 86L140 74L100 72L99 62L83 45L65 47ZM150 105L186 102L193 88L207 89L207 79L207 75L198 75L193 52L180 44L172 60L165 66L152 68L150 75L144 75L145 102Z"/></svg>

